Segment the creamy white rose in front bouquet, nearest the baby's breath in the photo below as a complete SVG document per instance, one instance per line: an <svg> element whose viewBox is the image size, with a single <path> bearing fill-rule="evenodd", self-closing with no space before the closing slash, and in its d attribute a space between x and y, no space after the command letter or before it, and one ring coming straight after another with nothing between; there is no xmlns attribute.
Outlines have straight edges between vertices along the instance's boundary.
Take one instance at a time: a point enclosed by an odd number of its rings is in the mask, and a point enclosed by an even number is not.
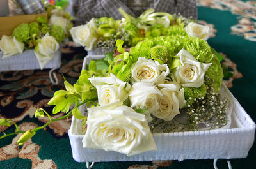
<svg viewBox="0 0 256 169"><path fill-rule="evenodd" d="M179 91L180 85L176 82L166 82L165 84L159 84L158 87L161 88L160 91L163 97L159 98L159 109L153 112L153 115L159 119L164 119L164 121L170 121L180 113L179 93L184 95L184 92ZM182 97L180 100L182 100ZM184 104L184 100L182 103Z"/></svg>

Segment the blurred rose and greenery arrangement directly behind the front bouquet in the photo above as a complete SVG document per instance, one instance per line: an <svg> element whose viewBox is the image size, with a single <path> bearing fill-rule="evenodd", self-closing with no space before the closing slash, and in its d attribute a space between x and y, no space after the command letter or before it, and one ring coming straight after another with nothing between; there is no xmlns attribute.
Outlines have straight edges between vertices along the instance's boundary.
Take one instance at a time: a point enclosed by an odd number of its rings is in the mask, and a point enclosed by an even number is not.
<svg viewBox="0 0 256 169"><path fill-rule="evenodd" d="M70 33L77 46L86 50L93 48L113 49L116 40L124 40L124 47L134 47L145 38L157 36L193 36L207 40L210 34L209 26L197 24L195 20L181 15L171 15L164 12L154 13L148 9L138 18L119 9L124 16L122 20L102 17L92 18L87 24L72 27Z"/></svg>

